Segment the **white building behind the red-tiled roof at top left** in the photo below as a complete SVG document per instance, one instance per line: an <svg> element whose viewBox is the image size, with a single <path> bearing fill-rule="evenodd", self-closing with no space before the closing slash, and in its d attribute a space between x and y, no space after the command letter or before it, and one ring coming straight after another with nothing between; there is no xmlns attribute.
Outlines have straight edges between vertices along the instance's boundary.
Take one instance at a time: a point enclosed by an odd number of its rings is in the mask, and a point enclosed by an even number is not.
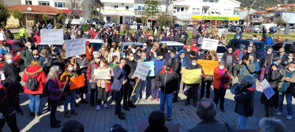
<svg viewBox="0 0 295 132"><path fill-rule="evenodd" d="M84 2L84 10L85 10L85 18L90 18L91 16L91 6L93 4L92 0L82 0ZM26 5L43 5L43 6L52 6L56 9L60 9L64 12L70 13L71 11L68 10L65 6L65 0L21 0L22 4ZM65 19L68 19L68 15L65 14ZM84 19L75 18L75 19Z"/></svg>

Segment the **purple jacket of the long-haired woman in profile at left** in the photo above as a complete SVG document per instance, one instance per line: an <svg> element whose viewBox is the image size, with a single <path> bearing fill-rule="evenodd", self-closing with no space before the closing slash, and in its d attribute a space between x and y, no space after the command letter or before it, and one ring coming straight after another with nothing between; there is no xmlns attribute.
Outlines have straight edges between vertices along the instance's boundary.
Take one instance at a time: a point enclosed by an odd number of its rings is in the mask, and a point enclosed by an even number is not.
<svg viewBox="0 0 295 132"><path fill-rule="evenodd" d="M58 78L50 78L48 80L49 99L58 100L61 97L61 82Z"/></svg>

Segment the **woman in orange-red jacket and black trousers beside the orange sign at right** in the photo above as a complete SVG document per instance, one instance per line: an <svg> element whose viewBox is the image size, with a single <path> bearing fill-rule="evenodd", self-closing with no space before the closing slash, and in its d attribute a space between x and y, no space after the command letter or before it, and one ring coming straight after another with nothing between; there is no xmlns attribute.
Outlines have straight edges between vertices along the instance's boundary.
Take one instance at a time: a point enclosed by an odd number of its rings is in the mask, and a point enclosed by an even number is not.
<svg viewBox="0 0 295 132"><path fill-rule="evenodd" d="M218 67L214 68L213 73L213 88L214 88L214 103L218 104L220 100L220 110L222 112L225 112L223 104L224 104L224 96L226 89L228 87L228 82L230 80L230 73L226 68L224 68L224 61L218 62Z"/></svg>

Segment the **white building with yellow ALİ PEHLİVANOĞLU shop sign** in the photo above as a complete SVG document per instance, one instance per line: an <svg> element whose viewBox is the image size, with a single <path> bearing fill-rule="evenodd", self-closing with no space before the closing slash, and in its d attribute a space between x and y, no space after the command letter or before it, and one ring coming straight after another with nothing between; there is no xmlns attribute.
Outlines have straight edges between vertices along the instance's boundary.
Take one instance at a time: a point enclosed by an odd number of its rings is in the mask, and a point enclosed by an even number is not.
<svg viewBox="0 0 295 132"><path fill-rule="evenodd" d="M238 24L240 17L235 14L240 9L240 2L235 0L174 0L173 16L176 23L212 23L214 25Z"/></svg>

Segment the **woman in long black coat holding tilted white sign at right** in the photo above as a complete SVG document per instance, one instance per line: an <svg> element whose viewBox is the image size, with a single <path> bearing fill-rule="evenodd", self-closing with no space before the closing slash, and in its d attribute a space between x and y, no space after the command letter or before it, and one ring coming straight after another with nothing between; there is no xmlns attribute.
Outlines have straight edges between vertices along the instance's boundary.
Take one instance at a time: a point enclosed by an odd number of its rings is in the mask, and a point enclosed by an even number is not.
<svg viewBox="0 0 295 132"><path fill-rule="evenodd" d="M276 58L277 59L277 58ZM280 58L278 57L278 60ZM268 74L266 74L266 80L275 92L271 98L267 99L265 94L261 94L260 103L265 106L265 117L273 117L274 107L278 107L278 84L283 75L279 72L277 64L270 64L268 68Z"/></svg>

